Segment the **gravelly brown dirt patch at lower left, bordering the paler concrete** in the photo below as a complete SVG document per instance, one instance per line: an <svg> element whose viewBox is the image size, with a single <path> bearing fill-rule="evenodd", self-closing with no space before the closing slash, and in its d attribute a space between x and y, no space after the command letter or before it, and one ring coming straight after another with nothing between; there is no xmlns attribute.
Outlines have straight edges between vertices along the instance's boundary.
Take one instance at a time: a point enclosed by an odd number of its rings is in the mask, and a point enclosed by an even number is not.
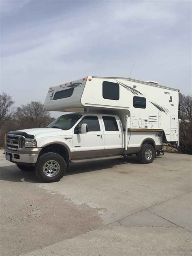
<svg viewBox="0 0 192 256"><path fill-rule="evenodd" d="M33 172L0 167L1 255L20 255L102 226L99 209L39 188Z"/></svg>

